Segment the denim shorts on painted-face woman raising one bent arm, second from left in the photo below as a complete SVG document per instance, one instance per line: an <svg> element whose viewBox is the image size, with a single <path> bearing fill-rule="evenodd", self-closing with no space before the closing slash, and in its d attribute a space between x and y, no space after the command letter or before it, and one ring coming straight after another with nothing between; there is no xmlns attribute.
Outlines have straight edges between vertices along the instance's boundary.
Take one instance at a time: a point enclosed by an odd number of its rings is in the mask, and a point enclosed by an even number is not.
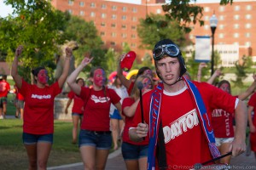
<svg viewBox="0 0 256 170"><path fill-rule="evenodd" d="M95 146L97 150L110 150L112 135L110 131L98 132L81 129L79 133L79 147Z"/></svg>

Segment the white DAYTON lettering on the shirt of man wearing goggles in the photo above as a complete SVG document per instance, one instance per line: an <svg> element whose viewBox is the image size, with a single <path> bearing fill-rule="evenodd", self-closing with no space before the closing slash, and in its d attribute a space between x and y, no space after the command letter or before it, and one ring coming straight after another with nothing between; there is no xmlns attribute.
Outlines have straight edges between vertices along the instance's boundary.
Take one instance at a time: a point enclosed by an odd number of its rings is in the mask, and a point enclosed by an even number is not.
<svg viewBox="0 0 256 170"><path fill-rule="evenodd" d="M165 143L170 142L177 136L187 132L189 129L199 124L195 109L189 111L185 115L179 117L176 121L172 122L170 126L163 127L165 135Z"/></svg>

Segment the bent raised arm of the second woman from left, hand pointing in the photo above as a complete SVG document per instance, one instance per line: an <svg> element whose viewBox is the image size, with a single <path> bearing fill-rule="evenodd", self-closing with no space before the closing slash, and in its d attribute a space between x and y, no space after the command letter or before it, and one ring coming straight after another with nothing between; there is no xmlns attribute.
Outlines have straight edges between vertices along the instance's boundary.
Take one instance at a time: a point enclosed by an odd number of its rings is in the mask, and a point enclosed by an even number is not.
<svg viewBox="0 0 256 170"><path fill-rule="evenodd" d="M89 65L90 64L90 61L92 60L93 58L89 58L89 57L85 57L81 64L71 73L71 75L69 77L67 77L67 84L68 86L73 90L73 92L75 94L78 94L80 95L80 92L81 92L81 87L79 86L78 83L76 83L76 78L79 76L79 73L80 71L83 70L83 68L86 66L86 65Z"/></svg>

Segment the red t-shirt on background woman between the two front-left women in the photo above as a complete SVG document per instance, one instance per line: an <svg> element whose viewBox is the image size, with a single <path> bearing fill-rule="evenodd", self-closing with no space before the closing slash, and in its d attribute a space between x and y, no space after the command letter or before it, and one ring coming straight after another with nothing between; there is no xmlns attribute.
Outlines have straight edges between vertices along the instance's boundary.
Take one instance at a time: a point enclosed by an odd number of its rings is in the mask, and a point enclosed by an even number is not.
<svg viewBox="0 0 256 170"><path fill-rule="evenodd" d="M79 98L79 96L77 96L75 93L73 93L73 91L70 91L67 94L67 97L69 99L73 99L72 112L82 115L84 113L84 100Z"/></svg>

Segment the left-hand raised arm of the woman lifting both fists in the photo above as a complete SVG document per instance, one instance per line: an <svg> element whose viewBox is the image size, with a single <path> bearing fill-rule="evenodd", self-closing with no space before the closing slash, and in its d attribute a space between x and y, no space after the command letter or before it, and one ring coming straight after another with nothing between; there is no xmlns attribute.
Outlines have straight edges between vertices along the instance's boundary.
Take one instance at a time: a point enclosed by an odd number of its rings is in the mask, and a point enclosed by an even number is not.
<svg viewBox="0 0 256 170"><path fill-rule="evenodd" d="M20 57L20 54L22 53L22 49L23 49L23 46L21 46L21 45L16 49L15 59L13 61L13 65L12 65L12 69L11 69L11 75L15 81L17 88L21 88L21 85L22 85L22 78L18 74L18 61L19 61L18 58Z"/></svg>

